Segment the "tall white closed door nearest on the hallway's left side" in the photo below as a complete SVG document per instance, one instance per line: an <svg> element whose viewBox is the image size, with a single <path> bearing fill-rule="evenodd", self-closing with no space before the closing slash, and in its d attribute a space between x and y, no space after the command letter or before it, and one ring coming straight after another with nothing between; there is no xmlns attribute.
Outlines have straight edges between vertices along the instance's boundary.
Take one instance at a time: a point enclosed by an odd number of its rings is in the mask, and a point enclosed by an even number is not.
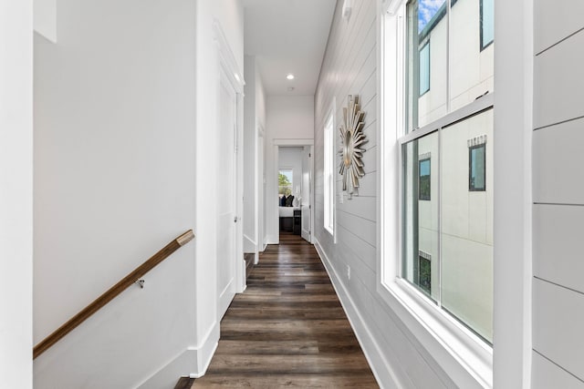
<svg viewBox="0 0 584 389"><path fill-rule="evenodd" d="M237 95L221 69L217 128L217 313L223 318L235 297L237 223Z"/></svg>

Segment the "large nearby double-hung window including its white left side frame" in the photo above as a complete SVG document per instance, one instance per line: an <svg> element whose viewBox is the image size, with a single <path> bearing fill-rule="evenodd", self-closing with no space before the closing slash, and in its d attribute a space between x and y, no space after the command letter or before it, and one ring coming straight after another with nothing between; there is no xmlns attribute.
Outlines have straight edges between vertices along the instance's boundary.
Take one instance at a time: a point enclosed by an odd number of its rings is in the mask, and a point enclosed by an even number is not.
<svg viewBox="0 0 584 389"><path fill-rule="evenodd" d="M381 162L381 283L408 296L400 301L415 320L442 318L421 328L454 353L470 343L485 350L493 342L493 1L390 6L381 147L397 153Z"/></svg>

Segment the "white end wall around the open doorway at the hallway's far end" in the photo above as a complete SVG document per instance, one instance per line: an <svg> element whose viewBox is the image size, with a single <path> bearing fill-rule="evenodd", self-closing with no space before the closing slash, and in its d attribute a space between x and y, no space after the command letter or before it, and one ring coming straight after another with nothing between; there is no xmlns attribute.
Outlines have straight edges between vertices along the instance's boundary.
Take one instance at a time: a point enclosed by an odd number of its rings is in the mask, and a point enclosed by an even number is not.
<svg viewBox="0 0 584 389"><path fill-rule="evenodd" d="M278 243L276 144L304 146L314 138L313 96L268 96L266 98L266 134L264 169L266 172L266 244ZM297 143L295 141L298 140ZM280 142L281 143L281 142Z"/></svg>

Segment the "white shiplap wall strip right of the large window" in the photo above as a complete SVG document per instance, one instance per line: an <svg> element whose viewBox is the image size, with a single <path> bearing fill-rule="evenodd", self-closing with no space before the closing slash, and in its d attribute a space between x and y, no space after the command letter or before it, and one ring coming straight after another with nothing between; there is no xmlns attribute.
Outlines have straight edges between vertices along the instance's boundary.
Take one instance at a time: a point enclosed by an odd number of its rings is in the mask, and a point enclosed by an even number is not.
<svg viewBox="0 0 584 389"><path fill-rule="evenodd" d="M532 387L584 388L584 3L534 5Z"/></svg>

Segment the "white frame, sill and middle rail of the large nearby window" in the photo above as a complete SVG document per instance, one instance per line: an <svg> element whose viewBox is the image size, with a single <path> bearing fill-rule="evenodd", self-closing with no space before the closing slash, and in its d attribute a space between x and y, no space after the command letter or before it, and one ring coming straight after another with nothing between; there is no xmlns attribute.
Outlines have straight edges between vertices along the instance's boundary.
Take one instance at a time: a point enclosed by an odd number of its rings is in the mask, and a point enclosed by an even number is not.
<svg viewBox="0 0 584 389"><path fill-rule="evenodd" d="M390 0L381 6L379 87L377 292L433 360L455 384L493 386L493 348L428 296L401 278L401 146L439 128L469 118L494 106L495 93L450 112L432 123L405 133L404 58L407 0ZM381 174L382 172L382 174Z"/></svg>

